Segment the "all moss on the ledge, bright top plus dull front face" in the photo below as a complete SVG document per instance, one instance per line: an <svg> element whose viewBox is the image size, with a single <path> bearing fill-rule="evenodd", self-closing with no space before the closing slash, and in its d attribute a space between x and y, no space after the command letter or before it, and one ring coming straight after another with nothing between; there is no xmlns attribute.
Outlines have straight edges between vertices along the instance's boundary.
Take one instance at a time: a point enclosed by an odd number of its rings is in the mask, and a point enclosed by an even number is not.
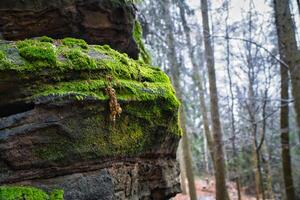
<svg viewBox="0 0 300 200"><path fill-rule="evenodd" d="M43 132L56 142L34 148L41 163L72 163L78 156L86 160L136 156L160 144L166 135L179 137L179 102L165 73L107 45L81 46L70 38L63 41L24 40L17 42L17 48L14 43L0 43L5 55L0 59L0 73L9 72L10 77L13 72L24 83L33 81L24 86L29 91L26 100L58 103L67 99L79 105L84 102L80 109L90 109L82 117L62 120L72 139L53 134L56 130ZM108 85L116 90L123 110L115 123L109 120ZM89 105L91 100L94 103Z"/></svg>

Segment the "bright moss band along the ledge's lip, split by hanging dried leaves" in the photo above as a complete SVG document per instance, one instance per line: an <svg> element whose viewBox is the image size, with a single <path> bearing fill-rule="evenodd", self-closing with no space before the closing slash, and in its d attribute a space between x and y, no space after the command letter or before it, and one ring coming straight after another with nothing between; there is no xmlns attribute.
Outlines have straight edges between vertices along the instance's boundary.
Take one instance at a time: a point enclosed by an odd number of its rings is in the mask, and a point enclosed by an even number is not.
<svg viewBox="0 0 300 200"><path fill-rule="evenodd" d="M174 109L178 109L179 107L179 102L170 84L117 80L112 82L111 85L116 90L119 100L154 101L165 99L165 107ZM107 100L108 96L105 93L107 86L107 82L104 80L62 82L55 85L42 86L36 96L64 96L73 94L83 98L94 97L99 100Z"/></svg>

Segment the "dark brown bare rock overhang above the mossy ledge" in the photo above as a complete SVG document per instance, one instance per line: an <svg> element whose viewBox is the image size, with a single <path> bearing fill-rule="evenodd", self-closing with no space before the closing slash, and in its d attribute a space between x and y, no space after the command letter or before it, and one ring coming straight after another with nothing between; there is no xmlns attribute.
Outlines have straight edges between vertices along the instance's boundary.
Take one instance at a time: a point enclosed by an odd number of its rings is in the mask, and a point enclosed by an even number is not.
<svg viewBox="0 0 300 200"><path fill-rule="evenodd" d="M75 37L109 44L137 58L135 9L125 0L1 0L0 35L6 40Z"/></svg>

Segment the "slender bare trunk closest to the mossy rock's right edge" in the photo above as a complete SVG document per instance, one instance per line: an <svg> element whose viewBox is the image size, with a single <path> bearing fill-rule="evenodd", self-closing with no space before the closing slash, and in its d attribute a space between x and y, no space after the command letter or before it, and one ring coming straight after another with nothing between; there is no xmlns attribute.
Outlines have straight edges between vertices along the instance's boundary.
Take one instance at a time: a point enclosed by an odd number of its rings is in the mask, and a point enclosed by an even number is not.
<svg viewBox="0 0 300 200"><path fill-rule="evenodd" d="M174 39L174 29L173 29L173 21L170 13L170 0L164 0L163 2L163 15L166 23L166 33L167 33L167 44L168 44L168 60L170 62L170 71L172 76L172 83L176 91L177 98L182 102L182 93L179 81L179 63L176 58L176 50L175 50L175 39ZM195 180L192 168L192 159L190 153L190 146L187 137L186 131L186 117L183 109L183 105L180 107L180 125L182 128L182 150L183 150L183 159L185 166L185 173L188 179L188 188L191 200L196 200L196 188L195 188Z"/></svg>

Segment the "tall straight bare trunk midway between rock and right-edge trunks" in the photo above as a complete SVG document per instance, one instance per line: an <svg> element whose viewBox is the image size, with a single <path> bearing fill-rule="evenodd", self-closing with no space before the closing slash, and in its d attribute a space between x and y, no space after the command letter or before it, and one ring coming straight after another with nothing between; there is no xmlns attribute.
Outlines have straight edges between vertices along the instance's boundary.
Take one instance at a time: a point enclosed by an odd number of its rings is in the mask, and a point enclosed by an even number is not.
<svg viewBox="0 0 300 200"><path fill-rule="evenodd" d="M227 200L229 195L226 188L226 170L225 160L223 152L223 139L221 122L219 116L218 105L218 92L216 86L216 73L215 73L215 61L214 52L211 44L210 28L208 21L208 5L207 0L201 0L201 13L203 21L203 35L205 46L205 57L209 79L209 91L210 91L210 107L211 107L211 119L212 119L212 131L214 140L214 159L215 159L215 177L216 177L216 200Z"/></svg>

